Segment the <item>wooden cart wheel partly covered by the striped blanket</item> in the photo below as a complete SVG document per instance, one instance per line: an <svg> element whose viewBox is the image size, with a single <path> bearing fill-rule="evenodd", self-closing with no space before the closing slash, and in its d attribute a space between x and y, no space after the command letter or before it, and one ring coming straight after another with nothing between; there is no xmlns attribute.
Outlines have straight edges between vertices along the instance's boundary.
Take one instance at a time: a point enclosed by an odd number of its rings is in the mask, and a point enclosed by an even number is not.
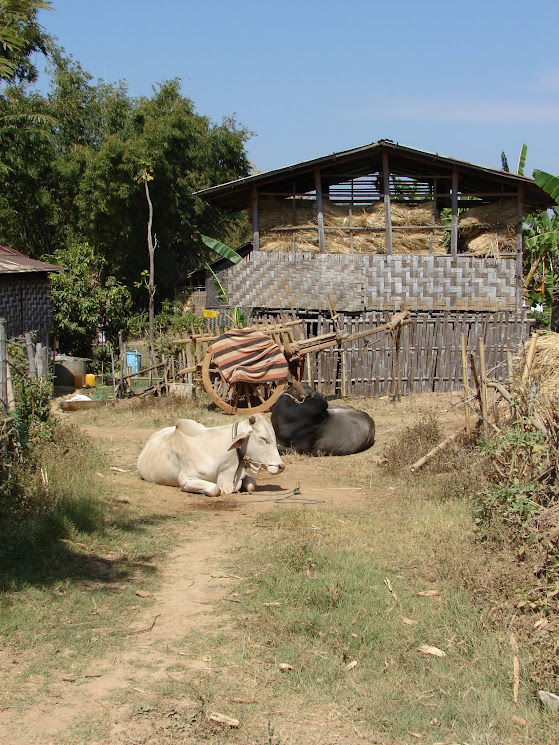
<svg viewBox="0 0 559 745"><path fill-rule="evenodd" d="M202 382L208 396L226 414L261 414L269 411L283 392L287 378L266 383L233 383L221 377L212 353L202 362Z"/></svg>

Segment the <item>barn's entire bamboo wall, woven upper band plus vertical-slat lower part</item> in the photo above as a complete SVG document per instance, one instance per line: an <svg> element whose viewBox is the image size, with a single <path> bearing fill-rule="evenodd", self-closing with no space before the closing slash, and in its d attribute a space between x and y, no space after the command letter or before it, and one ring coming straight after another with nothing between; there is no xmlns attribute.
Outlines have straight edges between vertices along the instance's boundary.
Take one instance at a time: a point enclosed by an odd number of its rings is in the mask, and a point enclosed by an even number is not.
<svg viewBox="0 0 559 745"><path fill-rule="evenodd" d="M333 255L253 251L220 273L231 305L261 318L294 308L307 338L332 331L327 296L349 333L380 325L402 304L412 324L402 331L402 393L461 387L461 334L476 354L484 339L492 377L504 379L507 350L529 335L517 302L516 257L459 255ZM218 307L213 282L208 307ZM212 304L213 300L213 304ZM393 391L390 337L360 339L308 359L308 381L326 395L380 396Z"/></svg>

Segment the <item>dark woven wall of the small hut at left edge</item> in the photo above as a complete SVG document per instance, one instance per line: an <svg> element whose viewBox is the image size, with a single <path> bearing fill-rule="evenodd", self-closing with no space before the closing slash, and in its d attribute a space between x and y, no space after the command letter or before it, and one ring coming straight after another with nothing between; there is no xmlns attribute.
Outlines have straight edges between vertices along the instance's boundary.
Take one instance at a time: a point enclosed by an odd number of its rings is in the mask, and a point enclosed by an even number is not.
<svg viewBox="0 0 559 745"><path fill-rule="evenodd" d="M36 340L45 344L52 320L48 275L0 275L0 317L7 321L8 338L36 331Z"/></svg>

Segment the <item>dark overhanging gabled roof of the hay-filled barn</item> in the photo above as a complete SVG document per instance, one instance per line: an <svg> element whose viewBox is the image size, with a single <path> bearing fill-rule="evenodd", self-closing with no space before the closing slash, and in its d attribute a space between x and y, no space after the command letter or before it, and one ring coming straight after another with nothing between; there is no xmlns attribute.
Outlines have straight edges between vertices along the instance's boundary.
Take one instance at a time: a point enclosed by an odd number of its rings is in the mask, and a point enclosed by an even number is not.
<svg viewBox="0 0 559 745"><path fill-rule="evenodd" d="M379 140L370 145L229 181L195 193L219 207L231 210L246 209L253 187L273 187L274 192L285 194L291 194L294 188L297 193L310 192L315 188L316 168L320 169L323 186L334 185L343 180L382 172L384 153L389 156L390 172L398 176L425 181L436 178L441 183L452 179L453 170L457 169L462 195L484 192L495 194L494 199L497 199L501 189L505 190L505 196L510 196L510 192L515 192L522 186L525 211L544 210L555 204L555 201L527 176L485 168L467 161L447 158L438 153L414 150L392 140Z"/></svg>

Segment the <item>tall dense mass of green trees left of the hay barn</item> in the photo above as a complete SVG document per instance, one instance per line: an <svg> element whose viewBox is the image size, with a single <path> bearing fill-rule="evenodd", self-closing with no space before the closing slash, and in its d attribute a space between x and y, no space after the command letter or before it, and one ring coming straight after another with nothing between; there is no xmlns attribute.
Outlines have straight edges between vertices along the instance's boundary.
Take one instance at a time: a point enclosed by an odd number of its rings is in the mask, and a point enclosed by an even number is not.
<svg viewBox="0 0 559 745"><path fill-rule="evenodd" d="M173 295L178 278L204 264L200 234L240 245L246 216L229 216L193 192L246 176L249 133L234 119L212 123L167 81L150 97L133 98L123 83L94 84L60 50L52 53L51 89L41 96L24 86L0 92L0 118L39 112L54 124L50 136L20 127L0 131L0 240L39 258L71 242L87 242L103 273L147 298L137 287L148 262L146 199L134 181L152 165L152 194L160 247L155 257L157 299ZM240 240L239 240L240 239Z"/></svg>

